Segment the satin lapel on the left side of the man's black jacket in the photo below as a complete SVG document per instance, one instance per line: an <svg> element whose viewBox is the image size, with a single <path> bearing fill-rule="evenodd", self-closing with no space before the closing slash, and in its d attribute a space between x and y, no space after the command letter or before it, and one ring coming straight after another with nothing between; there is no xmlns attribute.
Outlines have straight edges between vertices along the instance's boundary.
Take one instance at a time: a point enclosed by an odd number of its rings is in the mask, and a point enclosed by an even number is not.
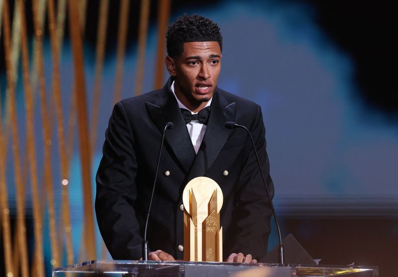
<svg viewBox="0 0 398 277"><path fill-rule="evenodd" d="M163 93L154 103L146 102L148 113L153 122L163 134L167 122L173 122L173 129L166 131L165 140L170 145L175 156L179 160L181 167L186 173L191 169L195 159L195 150L191 142L184 118L178 107L176 98L168 88L167 82L163 88ZM171 84L170 84L171 85Z"/></svg>

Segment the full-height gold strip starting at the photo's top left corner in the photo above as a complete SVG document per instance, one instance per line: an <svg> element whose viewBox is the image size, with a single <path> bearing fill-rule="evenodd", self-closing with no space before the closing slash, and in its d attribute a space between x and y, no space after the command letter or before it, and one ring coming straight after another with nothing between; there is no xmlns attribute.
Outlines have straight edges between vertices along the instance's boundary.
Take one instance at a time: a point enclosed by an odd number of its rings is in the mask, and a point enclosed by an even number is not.
<svg viewBox="0 0 398 277"><path fill-rule="evenodd" d="M21 168L19 159L19 136L18 136L18 125L15 111L15 91L14 91L14 81L13 81L13 71L12 63L10 60L10 22L8 16L8 0L3 2L3 32L4 32L4 60L6 65L6 75L8 83L9 92L9 111L11 119L11 133L12 133L12 152L13 152L13 162L14 162L14 178L16 185L16 208L17 208L17 231L18 236L18 248L21 255L21 272L22 277L29 276L28 269L28 258L27 258L27 243L26 243L26 227L25 227L25 214L24 214L24 203L20 201L23 197L24 189L21 180ZM4 148L5 149L5 148ZM3 210L4 212L5 210ZM9 258L9 257L8 257ZM7 258L7 259L8 259ZM13 269L8 265L8 272L13 272Z"/></svg>

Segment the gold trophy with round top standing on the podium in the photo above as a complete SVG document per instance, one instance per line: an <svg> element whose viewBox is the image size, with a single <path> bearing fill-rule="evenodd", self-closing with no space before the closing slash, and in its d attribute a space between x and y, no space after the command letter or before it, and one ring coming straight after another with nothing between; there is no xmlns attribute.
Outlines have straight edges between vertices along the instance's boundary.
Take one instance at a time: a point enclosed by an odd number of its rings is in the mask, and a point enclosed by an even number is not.
<svg viewBox="0 0 398 277"><path fill-rule="evenodd" d="M184 188L184 260L222 262L220 186L207 177L197 177Z"/></svg>

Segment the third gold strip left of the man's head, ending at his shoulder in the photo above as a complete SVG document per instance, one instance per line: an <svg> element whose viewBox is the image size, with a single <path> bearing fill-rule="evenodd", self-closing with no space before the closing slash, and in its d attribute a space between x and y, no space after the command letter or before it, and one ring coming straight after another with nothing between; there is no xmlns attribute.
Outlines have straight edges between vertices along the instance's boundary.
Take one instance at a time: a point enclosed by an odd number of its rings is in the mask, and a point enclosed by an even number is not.
<svg viewBox="0 0 398 277"><path fill-rule="evenodd" d="M123 81L124 52L126 51L128 12L130 8L129 0L120 0L119 8L119 27L117 34L117 53L116 53L116 77L113 92L113 103L120 100Z"/></svg>

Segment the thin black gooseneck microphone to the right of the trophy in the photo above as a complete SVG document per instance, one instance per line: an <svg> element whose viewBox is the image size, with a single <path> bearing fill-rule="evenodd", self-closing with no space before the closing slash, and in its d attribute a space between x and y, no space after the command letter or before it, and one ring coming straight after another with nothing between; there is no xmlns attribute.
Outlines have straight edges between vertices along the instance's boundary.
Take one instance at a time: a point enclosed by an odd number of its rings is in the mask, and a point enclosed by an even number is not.
<svg viewBox="0 0 398 277"><path fill-rule="evenodd" d="M251 140L252 145L253 145L254 153L256 154L258 168L260 169L261 177L263 178L263 183L264 183L264 186L265 186L265 190L267 191L268 199L270 199L270 206L271 206L272 214L274 215L275 224L277 225L278 238L279 238L279 249L278 249L278 252L279 252L279 263L280 264L284 264L284 262L285 262L285 253L284 253L284 247L283 247L283 244L282 244L281 228L279 226L277 213L276 213L275 208L274 208L274 203L272 202L272 198L271 198L271 195L270 195L270 190L268 189L267 182L265 181L264 172L261 169L260 159L258 158L258 154L257 154L256 146L254 145L252 134L250 133L250 131L245 126L236 124L233 121L225 122L225 128L228 128L228 129L243 128L243 129L246 130L247 134L250 137L250 140Z"/></svg>

